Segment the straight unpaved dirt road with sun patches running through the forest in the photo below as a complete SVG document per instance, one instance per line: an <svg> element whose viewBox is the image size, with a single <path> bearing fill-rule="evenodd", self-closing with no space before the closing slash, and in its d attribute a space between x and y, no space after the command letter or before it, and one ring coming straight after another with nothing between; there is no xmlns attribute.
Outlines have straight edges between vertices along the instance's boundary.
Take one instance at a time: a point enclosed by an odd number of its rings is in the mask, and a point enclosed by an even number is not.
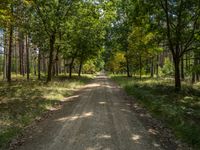
<svg viewBox="0 0 200 150"><path fill-rule="evenodd" d="M20 150L158 150L122 91L101 74L30 132Z"/></svg>

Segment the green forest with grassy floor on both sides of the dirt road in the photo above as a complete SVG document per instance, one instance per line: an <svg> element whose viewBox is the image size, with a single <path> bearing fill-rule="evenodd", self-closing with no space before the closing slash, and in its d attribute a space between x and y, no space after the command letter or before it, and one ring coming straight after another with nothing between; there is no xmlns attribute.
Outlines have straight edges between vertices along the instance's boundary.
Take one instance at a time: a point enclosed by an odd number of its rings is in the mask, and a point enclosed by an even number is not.
<svg viewBox="0 0 200 150"><path fill-rule="evenodd" d="M0 0L0 149L99 72L200 148L200 0Z"/></svg>

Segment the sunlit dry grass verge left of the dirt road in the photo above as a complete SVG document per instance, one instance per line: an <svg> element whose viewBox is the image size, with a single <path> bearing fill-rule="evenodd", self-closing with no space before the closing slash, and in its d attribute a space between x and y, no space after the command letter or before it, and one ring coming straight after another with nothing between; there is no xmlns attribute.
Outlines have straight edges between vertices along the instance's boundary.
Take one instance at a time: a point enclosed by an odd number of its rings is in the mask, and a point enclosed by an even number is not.
<svg viewBox="0 0 200 150"><path fill-rule="evenodd" d="M0 82L0 149L6 149L9 142L22 130L39 119L47 111L60 106L64 97L92 79L84 75L68 79L55 78L45 81L15 78L11 84Z"/></svg>

